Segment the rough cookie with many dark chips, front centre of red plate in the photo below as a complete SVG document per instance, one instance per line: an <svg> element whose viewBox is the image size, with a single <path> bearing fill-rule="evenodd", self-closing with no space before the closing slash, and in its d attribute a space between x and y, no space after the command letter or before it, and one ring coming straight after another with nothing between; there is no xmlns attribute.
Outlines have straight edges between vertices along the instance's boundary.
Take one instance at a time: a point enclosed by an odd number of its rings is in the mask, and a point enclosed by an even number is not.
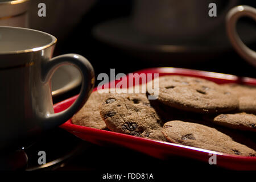
<svg viewBox="0 0 256 182"><path fill-rule="evenodd" d="M101 104L100 114L111 131L164 139L163 122L147 100L146 94L112 94Z"/></svg>

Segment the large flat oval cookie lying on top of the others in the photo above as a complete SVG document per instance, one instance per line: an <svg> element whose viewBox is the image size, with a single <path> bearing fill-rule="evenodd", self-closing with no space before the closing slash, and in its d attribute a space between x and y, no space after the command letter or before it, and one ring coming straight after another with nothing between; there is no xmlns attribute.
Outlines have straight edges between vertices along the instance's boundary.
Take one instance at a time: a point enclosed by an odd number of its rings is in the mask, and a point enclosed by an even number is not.
<svg viewBox="0 0 256 182"><path fill-rule="evenodd" d="M152 95L154 89L147 88L147 93ZM212 81L196 77L159 77L157 99L171 107L197 113L220 113L238 107L234 94Z"/></svg>

